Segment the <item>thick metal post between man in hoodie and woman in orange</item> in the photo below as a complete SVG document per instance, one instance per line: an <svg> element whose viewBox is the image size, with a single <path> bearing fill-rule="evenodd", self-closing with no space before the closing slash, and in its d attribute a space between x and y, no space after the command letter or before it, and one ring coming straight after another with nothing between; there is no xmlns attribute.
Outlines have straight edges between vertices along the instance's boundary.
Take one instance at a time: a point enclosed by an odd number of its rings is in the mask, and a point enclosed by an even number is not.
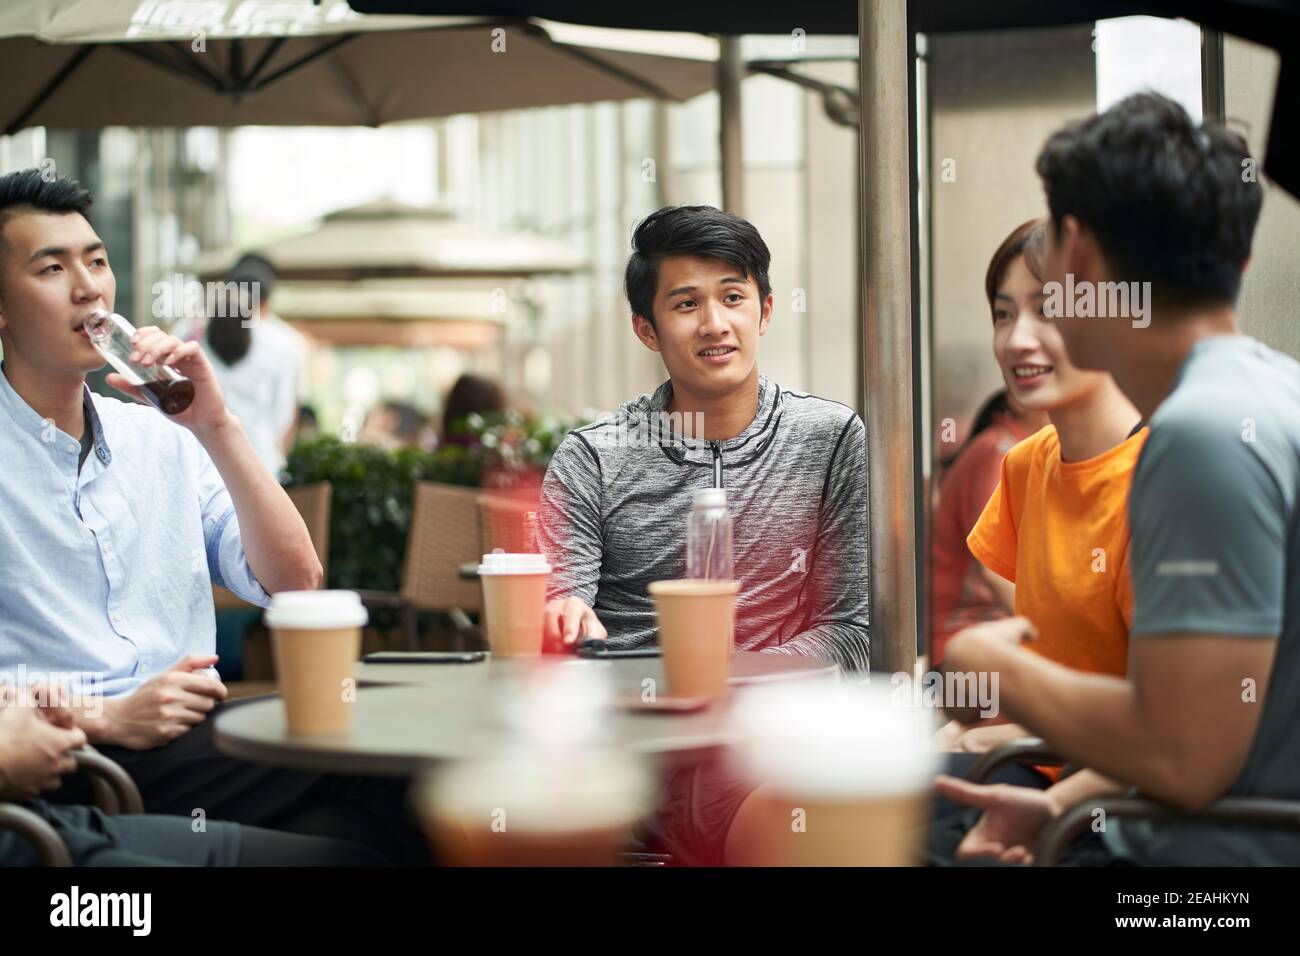
<svg viewBox="0 0 1300 956"><path fill-rule="evenodd" d="M871 643L916 662L907 0L858 0Z"/></svg>

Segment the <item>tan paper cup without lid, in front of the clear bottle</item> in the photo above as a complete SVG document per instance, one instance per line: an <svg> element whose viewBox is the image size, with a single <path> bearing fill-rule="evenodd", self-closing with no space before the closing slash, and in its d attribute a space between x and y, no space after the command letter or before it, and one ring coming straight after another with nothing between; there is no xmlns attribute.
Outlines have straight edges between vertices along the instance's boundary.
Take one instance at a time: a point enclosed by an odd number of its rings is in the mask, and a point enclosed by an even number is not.
<svg viewBox="0 0 1300 956"><path fill-rule="evenodd" d="M650 584L664 679L673 697L727 693L740 581L684 579Z"/></svg>

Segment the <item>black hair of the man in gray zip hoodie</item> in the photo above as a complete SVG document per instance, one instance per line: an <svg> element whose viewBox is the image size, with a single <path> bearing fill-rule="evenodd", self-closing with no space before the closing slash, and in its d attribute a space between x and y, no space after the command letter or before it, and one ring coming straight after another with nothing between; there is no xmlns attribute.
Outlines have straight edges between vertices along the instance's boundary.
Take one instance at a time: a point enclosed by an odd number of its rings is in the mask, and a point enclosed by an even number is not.
<svg viewBox="0 0 1300 956"><path fill-rule="evenodd" d="M668 256L722 259L753 278L760 299L772 293L767 269L772 254L753 224L712 206L666 206L651 212L632 233L632 255L623 289L632 311L654 321L654 294L659 263Z"/></svg>

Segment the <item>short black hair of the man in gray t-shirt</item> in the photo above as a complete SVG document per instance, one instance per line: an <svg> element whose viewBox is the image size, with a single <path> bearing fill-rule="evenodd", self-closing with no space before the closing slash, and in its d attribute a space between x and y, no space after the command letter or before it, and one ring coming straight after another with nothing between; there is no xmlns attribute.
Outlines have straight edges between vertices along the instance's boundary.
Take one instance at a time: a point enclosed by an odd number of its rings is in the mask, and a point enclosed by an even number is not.
<svg viewBox="0 0 1300 956"><path fill-rule="evenodd" d="M1117 280L1161 307L1236 300L1262 193L1245 140L1143 92L1053 134L1037 159L1052 226L1074 216Z"/></svg>

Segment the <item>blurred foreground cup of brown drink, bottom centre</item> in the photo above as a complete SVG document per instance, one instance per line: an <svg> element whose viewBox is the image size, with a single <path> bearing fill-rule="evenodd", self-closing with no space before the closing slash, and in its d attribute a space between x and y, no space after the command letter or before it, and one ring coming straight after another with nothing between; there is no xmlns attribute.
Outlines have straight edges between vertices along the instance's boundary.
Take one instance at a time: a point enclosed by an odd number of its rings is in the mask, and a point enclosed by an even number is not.
<svg viewBox="0 0 1300 956"><path fill-rule="evenodd" d="M416 804L434 856L452 866L614 866L650 793L630 757L540 748L439 769Z"/></svg>

